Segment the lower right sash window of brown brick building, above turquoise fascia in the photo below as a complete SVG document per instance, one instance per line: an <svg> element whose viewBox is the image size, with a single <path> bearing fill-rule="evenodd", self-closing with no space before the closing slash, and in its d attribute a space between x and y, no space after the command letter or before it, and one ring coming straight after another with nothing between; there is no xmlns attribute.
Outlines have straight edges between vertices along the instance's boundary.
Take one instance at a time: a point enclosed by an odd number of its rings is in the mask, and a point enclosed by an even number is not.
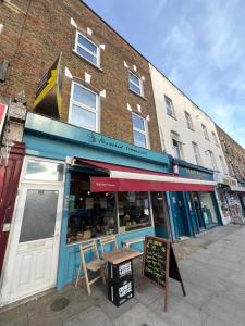
<svg viewBox="0 0 245 326"><path fill-rule="evenodd" d="M134 131L134 145L148 148L148 135L146 120L142 116L133 113L133 131Z"/></svg>

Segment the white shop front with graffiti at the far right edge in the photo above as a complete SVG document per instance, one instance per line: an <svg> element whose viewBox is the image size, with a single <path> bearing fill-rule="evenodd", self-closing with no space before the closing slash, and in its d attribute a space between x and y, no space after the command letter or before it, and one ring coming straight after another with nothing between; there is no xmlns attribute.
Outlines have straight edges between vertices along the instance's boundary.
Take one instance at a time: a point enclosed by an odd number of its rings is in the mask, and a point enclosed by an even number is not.
<svg viewBox="0 0 245 326"><path fill-rule="evenodd" d="M224 224L244 224L244 193L245 187L240 185L237 180L228 175L216 173L213 175L218 184L217 193L223 214Z"/></svg>

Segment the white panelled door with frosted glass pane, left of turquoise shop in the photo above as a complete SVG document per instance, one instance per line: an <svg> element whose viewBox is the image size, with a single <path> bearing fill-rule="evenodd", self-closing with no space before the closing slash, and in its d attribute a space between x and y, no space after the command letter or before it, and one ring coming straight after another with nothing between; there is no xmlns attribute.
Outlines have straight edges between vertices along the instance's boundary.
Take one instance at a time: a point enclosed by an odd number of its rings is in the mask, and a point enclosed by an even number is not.
<svg viewBox="0 0 245 326"><path fill-rule="evenodd" d="M1 305L56 286L62 188L23 185L11 235Z"/></svg>

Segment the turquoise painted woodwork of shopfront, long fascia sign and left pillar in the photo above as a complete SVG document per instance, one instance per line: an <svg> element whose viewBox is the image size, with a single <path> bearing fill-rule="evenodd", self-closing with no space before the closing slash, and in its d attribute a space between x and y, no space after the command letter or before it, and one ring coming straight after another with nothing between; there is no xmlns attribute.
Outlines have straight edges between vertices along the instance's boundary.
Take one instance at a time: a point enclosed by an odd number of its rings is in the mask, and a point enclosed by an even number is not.
<svg viewBox="0 0 245 326"><path fill-rule="evenodd" d="M112 139L110 137L102 136L97 133L93 133L83 128L72 126L66 123L61 123L38 114L28 113L25 124L24 141L26 143L26 154L29 156L44 158L58 160L64 163L64 204L62 212L62 225L60 236L60 253L59 253L59 266L57 277L57 288L61 289L64 285L72 283L76 277L76 272L79 265L79 239L83 239L83 235L86 234L87 239L91 236L90 230L78 233L81 237L73 237L69 235L71 231L71 211L77 211L77 214L85 214L87 206L93 208L93 199L87 193L85 200L85 206L81 203L77 204L75 195L72 193L76 179L76 176L82 173L91 173L94 167L83 166L75 164L74 158L79 160L93 160L103 161L110 164L119 164L140 170L154 171L158 173L169 173L169 158L164 153L149 151L147 149L138 148L136 146ZM73 162L72 162L73 161ZM74 163L74 164L73 164ZM96 175L103 175L99 168L96 171ZM81 193L84 191L81 189ZM108 193L106 193L108 195ZM151 204L148 204L147 198L142 198L138 193L130 192L130 201L136 201L139 205L140 202L145 204L144 213L149 214L152 211ZM109 195L108 195L109 197ZM136 199L135 199L136 197ZM82 198L82 195L81 195ZM99 198L100 204L105 208L110 218L109 206L106 208L106 198ZM119 198L117 199L119 201ZM107 202L109 200L107 199ZM111 203L110 203L111 204ZM119 210L123 213L123 203L118 203ZM109 204L108 204L109 205ZM111 204L113 206L113 204ZM100 206L100 210L102 210ZM113 209L112 209L113 210ZM112 211L111 210L111 211ZM91 211L91 210L90 210ZM126 212L125 212L126 213ZM147 220L147 217L145 217ZM152 216L149 221L145 220L146 227L134 228L134 225L118 225L118 243L121 246L122 240L134 237L145 237L145 235L155 235ZM74 217L75 221L75 217ZM144 221L144 220L143 220ZM148 222L148 223L147 223ZM131 222L128 222L130 224ZM132 222L135 223L136 222ZM112 223L113 224L113 223ZM144 223L142 223L144 224ZM79 227L79 226L78 226ZM99 225L95 227L99 228ZM113 229L111 229L113 230ZM100 230L98 230L98 234ZM99 237L98 237L99 238ZM140 247L137 247L140 246ZM136 248L142 250L142 244L136 244Z"/></svg>

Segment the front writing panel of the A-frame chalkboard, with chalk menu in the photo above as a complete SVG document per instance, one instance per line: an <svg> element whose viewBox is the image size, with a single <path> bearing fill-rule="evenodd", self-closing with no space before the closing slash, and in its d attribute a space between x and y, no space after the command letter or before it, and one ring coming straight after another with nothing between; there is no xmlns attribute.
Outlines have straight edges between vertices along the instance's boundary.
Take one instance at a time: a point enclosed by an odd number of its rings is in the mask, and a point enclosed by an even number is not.
<svg viewBox="0 0 245 326"><path fill-rule="evenodd" d="M146 237L144 276L161 287L166 287L168 241L157 237Z"/></svg>

